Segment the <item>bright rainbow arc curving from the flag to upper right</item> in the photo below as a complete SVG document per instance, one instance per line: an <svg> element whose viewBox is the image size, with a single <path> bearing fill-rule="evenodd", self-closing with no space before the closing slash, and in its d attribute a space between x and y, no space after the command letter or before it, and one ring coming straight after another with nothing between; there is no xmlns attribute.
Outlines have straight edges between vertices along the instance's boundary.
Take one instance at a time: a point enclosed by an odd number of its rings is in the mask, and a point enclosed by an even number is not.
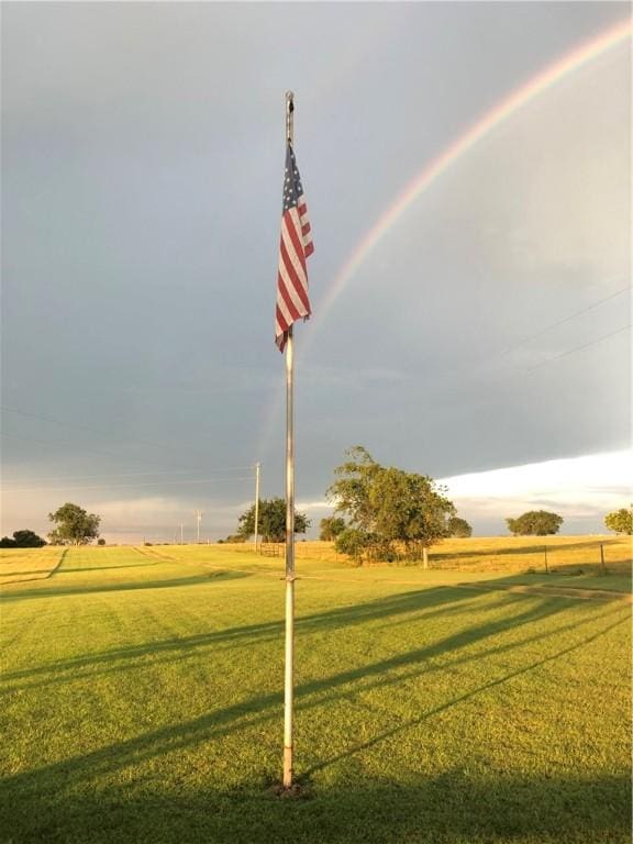
<svg viewBox="0 0 633 844"><path fill-rule="evenodd" d="M347 260L336 273L330 289L319 302L316 318L313 319L306 332L300 353L304 354L315 335L316 326L325 319L330 309L338 298L352 276L363 264L367 255L377 243L402 216L404 211L455 162L462 158L476 144L479 143L500 123L512 116L535 97L556 85L568 74L578 70L584 65L592 62L612 47L622 44L631 36L631 20L621 21L617 25L602 32L597 37L575 47L553 65L538 73L524 85L515 88L504 100L495 106L460 137L454 141L436 158L426 164L401 193L391 202L382 216L369 229L363 240L356 245Z"/></svg>

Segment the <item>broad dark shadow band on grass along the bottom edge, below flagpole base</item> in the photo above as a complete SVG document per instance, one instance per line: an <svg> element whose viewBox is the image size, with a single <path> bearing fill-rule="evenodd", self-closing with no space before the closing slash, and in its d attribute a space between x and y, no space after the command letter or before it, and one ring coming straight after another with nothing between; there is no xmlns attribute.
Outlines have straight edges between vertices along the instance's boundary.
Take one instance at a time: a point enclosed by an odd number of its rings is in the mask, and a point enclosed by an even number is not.
<svg viewBox="0 0 633 844"><path fill-rule="evenodd" d="M469 775L414 781L356 777L280 800L262 782L232 789L163 781L30 791L2 818L20 844L624 844L624 775Z"/></svg>

